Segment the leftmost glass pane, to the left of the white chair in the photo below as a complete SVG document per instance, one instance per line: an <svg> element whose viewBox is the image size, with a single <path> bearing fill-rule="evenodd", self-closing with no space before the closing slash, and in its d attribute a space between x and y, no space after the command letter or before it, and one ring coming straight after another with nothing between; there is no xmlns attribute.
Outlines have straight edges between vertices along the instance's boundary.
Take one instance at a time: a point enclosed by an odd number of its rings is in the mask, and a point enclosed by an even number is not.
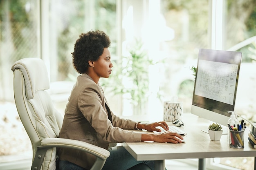
<svg viewBox="0 0 256 170"><path fill-rule="evenodd" d="M0 162L31 157L31 144L14 104L11 66L25 57L40 57L38 11L36 0L0 1Z"/></svg>

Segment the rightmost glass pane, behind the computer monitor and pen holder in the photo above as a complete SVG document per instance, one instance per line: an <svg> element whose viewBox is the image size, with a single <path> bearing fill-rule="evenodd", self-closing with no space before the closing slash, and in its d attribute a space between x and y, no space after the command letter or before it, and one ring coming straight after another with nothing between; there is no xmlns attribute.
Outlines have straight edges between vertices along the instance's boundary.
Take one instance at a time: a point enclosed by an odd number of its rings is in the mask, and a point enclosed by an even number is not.
<svg viewBox="0 0 256 170"><path fill-rule="evenodd" d="M252 94L256 93L254 86L256 84L256 2L255 0L223 2L225 9L223 49L243 53L235 111L245 119L255 122L256 99ZM219 163L250 170L254 165L254 157L220 158Z"/></svg>

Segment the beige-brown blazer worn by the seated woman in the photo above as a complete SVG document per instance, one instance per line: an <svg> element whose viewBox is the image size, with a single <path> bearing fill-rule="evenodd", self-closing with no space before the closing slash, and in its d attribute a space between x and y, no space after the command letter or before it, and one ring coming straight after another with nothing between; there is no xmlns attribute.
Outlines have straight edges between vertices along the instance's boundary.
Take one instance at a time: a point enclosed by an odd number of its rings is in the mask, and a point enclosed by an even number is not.
<svg viewBox="0 0 256 170"><path fill-rule="evenodd" d="M141 132L134 129L135 121L121 119L110 109L103 90L87 74L77 77L68 99L59 137L84 141L108 149L110 142L140 142ZM111 119L112 117L112 119ZM68 148L57 148L60 160L70 161L90 169L96 157L91 154Z"/></svg>

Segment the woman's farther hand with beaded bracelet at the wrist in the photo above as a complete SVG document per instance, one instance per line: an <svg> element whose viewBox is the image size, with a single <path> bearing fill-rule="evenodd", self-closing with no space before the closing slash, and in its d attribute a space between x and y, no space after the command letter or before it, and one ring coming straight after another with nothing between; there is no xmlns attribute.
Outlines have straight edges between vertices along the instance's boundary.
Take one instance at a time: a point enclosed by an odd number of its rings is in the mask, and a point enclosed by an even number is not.
<svg viewBox="0 0 256 170"><path fill-rule="evenodd" d="M162 128L164 128L164 130L169 130L169 127L168 127L168 125L166 124L165 121L159 121L159 122L150 123L150 124L141 124L141 123L139 123L137 125L137 127L139 129L145 129L149 132L153 132L153 131L162 132L159 128L156 128L157 126L161 126Z"/></svg>

